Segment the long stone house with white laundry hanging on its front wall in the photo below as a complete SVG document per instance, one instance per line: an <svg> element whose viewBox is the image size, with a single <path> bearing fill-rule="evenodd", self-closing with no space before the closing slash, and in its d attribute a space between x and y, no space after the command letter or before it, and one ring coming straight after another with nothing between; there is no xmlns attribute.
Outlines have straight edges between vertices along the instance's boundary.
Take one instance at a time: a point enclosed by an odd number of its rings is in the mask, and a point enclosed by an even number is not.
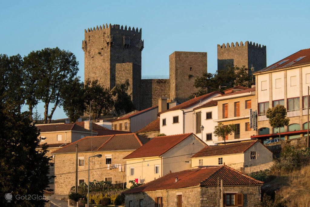
<svg viewBox="0 0 310 207"><path fill-rule="evenodd" d="M126 167L123 158L148 142L147 138L135 133L84 137L52 152L54 155L55 194L66 195L75 185L76 163L78 163L78 184L90 181L126 182ZM78 159L76 158L78 146ZM101 154L101 158L88 157Z"/></svg>

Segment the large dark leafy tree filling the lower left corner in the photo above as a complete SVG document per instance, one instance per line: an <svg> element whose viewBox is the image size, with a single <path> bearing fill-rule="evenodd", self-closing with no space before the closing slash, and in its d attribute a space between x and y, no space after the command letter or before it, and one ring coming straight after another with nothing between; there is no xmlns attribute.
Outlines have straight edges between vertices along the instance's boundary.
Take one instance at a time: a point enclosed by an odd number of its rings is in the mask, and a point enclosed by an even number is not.
<svg viewBox="0 0 310 207"><path fill-rule="evenodd" d="M15 196L43 196L50 178L47 145L36 150L39 132L28 112L14 113L0 102L0 203L7 205L4 195L11 193L12 206L44 206L45 200L17 200Z"/></svg>

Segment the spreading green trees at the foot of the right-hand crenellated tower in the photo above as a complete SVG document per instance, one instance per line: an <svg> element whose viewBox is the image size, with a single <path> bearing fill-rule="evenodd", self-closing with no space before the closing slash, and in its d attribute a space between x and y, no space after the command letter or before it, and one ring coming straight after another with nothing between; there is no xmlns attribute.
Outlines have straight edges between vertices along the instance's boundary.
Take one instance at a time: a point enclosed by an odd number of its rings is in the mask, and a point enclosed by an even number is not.
<svg viewBox="0 0 310 207"><path fill-rule="evenodd" d="M198 89L190 98L201 96L213 91L223 91L234 86L250 87L252 76L248 73L249 69L245 66L231 67L226 66L224 70L217 70L215 74L204 73L201 77L195 79L194 87ZM219 88L219 86L226 86Z"/></svg>

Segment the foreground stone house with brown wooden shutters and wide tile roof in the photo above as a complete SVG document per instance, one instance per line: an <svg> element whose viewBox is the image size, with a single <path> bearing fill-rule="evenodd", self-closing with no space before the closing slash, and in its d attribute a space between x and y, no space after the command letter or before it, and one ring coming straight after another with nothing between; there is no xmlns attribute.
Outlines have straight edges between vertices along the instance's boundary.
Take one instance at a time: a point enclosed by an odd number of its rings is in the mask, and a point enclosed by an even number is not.
<svg viewBox="0 0 310 207"><path fill-rule="evenodd" d="M223 182L221 190L220 183ZM250 187L249 187L250 184ZM127 190L125 206L255 206L263 182L226 165L201 166ZM220 205L219 205L220 206Z"/></svg>

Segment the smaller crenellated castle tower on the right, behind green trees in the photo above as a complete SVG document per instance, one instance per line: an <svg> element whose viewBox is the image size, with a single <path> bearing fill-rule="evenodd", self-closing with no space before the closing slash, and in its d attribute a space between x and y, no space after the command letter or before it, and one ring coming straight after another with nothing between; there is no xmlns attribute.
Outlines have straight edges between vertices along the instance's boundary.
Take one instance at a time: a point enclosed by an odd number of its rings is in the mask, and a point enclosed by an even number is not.
<svg viewBox="0 0 310 207"><path fill-rule="evenodd" d="M261 70L267 66L266 62L266 46L246 41L242 41L240 45L236 42L225 44L222 46L217 45L217 70L223 70L226 65L237 65L242 67L245 65L247 68L254 67L254 71Z"/></svg>

